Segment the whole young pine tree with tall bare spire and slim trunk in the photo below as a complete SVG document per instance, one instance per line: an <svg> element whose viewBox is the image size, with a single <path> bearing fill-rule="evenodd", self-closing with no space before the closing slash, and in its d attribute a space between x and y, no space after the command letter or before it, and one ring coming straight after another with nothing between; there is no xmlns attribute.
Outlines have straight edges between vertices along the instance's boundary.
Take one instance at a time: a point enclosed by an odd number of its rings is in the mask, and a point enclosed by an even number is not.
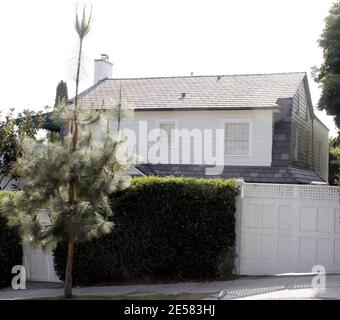
<svg viewBox="0 0 340 320"><path fill-rule="evenodd" d="M132 161L123 152L125 140L110 129L109 120L122 119L129 113L121 99L105 113L79 105L82 43L90 22L91 15L86 17L84 7L81 21L76 15L80 46L74 103L71 107L60 105L54 111L55 118L69 123L69 134L63 143L23 139L22 156L15 171L25 184L13 199L1 202L9 225L19 226L24 241L43 245L67 241L66 298L72 297L74 244L111 231L109 198L128 186L126 172ZM93 130L94 124L101 130ZM47 227L38 219L39 208L45 208L49 214Z"/></svg>

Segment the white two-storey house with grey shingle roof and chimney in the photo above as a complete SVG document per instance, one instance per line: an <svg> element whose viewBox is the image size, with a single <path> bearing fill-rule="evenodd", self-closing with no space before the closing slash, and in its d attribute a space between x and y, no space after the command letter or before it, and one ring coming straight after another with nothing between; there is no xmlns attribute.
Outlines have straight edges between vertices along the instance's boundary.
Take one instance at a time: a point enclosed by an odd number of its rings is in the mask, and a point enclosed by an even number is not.
<svg viewBox="0 0 340 320"><path fill-rule="evenodd" d="M315 116L306 73L113 79L107 55L82 107L122 100L122 123L145 175L240 177L246 182L328 180L328 129ZM208 170L207 170L208 168ZM210 169L209 169L210 168Z"/></svg>

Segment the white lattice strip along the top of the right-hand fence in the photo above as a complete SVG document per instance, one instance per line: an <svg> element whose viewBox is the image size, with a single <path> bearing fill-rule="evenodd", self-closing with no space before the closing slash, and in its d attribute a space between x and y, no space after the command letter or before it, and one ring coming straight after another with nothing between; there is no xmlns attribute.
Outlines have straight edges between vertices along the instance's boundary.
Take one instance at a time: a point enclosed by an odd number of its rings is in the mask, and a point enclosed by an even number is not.
<svg viewBox="0 0 340 320"><path fill-rule="evenodd" d="M340 187L320 185L244 183L243 196L340 200Z"/></svg>

